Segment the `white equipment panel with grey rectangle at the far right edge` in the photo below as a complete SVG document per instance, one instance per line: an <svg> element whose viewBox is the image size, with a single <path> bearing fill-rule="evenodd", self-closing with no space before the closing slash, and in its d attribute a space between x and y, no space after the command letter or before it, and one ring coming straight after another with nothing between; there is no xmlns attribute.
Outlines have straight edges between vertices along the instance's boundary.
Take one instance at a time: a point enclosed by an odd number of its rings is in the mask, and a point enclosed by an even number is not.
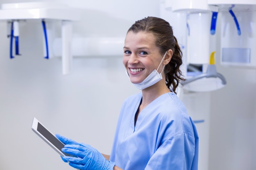
<svg viewBox="0 0 256 170"><path fill-rule="evenodd" d="M234 10L233 12L239 23L241 35L238 35L235 21L230 13L222 11L221 64L256 68L256 11ZM227 49L230 51L229 54ZM232 55L234 52L236 54Z"/></svg>

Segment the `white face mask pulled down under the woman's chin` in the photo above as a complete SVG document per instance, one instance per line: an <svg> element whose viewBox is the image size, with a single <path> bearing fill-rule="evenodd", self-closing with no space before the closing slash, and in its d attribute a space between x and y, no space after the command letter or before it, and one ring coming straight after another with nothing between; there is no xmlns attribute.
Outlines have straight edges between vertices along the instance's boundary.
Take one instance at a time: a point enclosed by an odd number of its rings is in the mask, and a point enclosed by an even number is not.
<svg viewBox="0 0 256 170"><path fill-rule="evenodd" d="M164 57L165 57L166 53L167 53L167 51L165 52ZM163 57L161 63L163 62L164 57ZM157 70L159 69L161 63L159 64ZM153 70L153 71L148 75L148 77L146 77L141 83L138 83L138 84L132 83L132 84L133 84L135 87L137 87L138 89L140 89L140 90L143 90L143 89L145 89L145 88L147 88L147 87L149 87L149 86L151 86L151 85L156 84L158 81L160 81L160 80L163 79L163 78L162 78L162 72L163 72L164 68L163 68L163 70L161 71L160 74L157 72L157 70L156 70L156 69ZM125 73L126 73L126 74L128 75L128 77L129 77L129 74L128 74L127 70L125 70ZM129 78L130 78L130 77L129 77Z"/></svg>

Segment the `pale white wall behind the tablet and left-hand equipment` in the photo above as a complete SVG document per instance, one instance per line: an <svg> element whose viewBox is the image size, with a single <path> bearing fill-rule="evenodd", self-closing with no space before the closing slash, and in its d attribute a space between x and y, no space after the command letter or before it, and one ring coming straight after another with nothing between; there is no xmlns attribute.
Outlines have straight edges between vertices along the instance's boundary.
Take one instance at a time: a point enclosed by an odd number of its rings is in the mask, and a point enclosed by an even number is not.
<svg viewBox="0 0 256 170"><path fill-rule="evenodd" d="M12 2L24 1L0 4ZM86 9L74 24L74 34L84 37L125 36L135 20L159 13L157 0L64 2ZM40 21L20 26L22 55L12 60L6 35L0 22L0 169L73 169L34 134L33 117L53 133L110 154L122 102L139 92L125 75L123 53L75 58L72 73L63 76L60 58L44 59Z"/></svg>

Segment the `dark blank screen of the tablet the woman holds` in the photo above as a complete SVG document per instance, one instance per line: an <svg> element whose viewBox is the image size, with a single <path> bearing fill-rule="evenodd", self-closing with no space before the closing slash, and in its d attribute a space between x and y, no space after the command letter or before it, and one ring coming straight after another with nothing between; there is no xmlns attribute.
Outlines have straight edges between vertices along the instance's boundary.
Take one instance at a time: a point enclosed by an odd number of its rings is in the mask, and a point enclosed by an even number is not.
<svg viewBox="0 0 256 170"><path fill-rule="evenodd" d="M51 132L49 132L47 129L44 128L39 122L37 124L37 131L41 133L48 141L50 141L56 148L58 148L61 151L62 148L64 148L64 144L62 144L55 136L52 135ZM67 153L62 152L66 156L74 157L74 155L70 155Z"/></svg>

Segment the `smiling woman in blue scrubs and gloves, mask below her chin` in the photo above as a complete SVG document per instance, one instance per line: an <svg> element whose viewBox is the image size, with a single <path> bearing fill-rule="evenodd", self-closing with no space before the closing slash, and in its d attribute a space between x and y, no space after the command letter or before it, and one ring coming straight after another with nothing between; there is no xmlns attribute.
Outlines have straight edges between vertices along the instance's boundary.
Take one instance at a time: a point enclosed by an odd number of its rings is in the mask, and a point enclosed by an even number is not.
<svg viewBox="0 0 256 170"><path fill-rule="evenodd" d="M66 144L63 152L78 156L63 160L77 169L196 170L196 127L175 93L184 80L181 56L167 21L156 17L136 21L126 34L123 63L132 84L142 92L123 103L110 157L56 135Z"/></svg>

